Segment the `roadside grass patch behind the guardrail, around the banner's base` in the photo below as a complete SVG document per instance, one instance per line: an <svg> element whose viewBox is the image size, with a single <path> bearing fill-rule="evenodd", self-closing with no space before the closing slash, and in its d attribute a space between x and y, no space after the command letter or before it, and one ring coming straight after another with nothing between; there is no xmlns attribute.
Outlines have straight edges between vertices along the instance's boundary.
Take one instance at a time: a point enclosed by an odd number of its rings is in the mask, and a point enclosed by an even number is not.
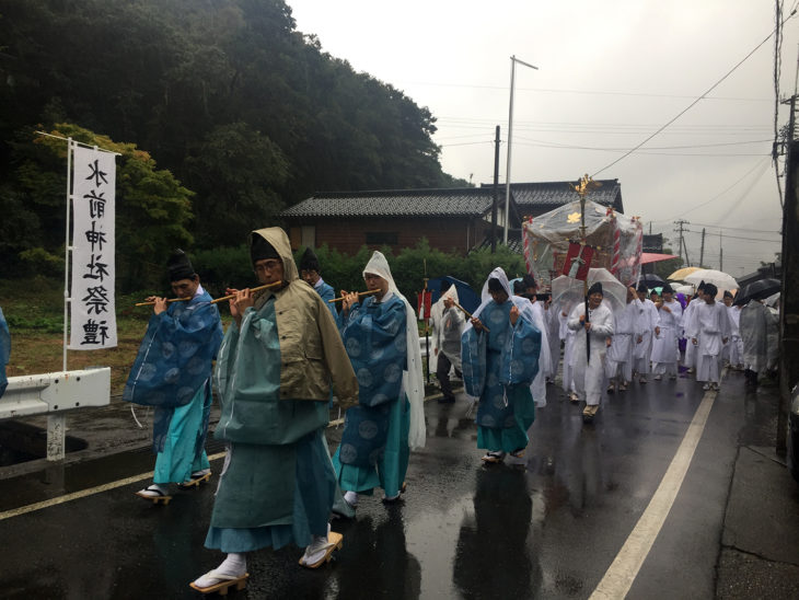
<svg viewBox="0 0 799 600"><path fill-rule="evenodd" d="M152 292L117 295L116 348L68 350L69 370L111 367L111 393L121 395L139 350L152 310L134 307ZM63 367L63 280L32 277L0 281L0 308L11 332L7 374L24 376L60 371ZM222 309L227 330L230 314Z"/></svg>

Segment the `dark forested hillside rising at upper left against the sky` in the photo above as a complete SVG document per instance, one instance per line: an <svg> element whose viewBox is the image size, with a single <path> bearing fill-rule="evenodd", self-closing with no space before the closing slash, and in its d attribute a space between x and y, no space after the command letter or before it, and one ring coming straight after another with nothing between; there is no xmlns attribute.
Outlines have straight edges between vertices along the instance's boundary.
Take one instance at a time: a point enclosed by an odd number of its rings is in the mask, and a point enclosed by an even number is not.
<svg viewBox="0 0 799 600"><path fill-rule="evenodd" d="M320 189L460 184L441 171L429 109L325 53L283 0L0 0L0 209L14 215L0 263L62 239L63 154L30 143L58 123L132 142L123 162L139 146L166 168L149 155L129 166L138 221L125 233L144 252L124 257L128 286L151 277L142 256L162 263L160 240L234 246ZM194 221L166 173L195 193Z"/></svg>

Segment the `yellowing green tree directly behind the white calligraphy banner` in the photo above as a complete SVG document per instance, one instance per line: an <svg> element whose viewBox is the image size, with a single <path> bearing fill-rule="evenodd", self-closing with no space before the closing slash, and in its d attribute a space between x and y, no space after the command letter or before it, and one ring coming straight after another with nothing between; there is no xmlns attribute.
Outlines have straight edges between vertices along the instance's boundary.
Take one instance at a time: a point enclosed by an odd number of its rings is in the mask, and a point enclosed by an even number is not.
<svg viewBox="0 0 799 600"><path fill-rule="evenodd" d="M118 143L66 123L57 124L50 132L120 154L116 177L117 281L123 289L158 285L169 253L192 243L187 230L192 193L172 173L155 169L150 154L134 143ZM28 268L43 268L46 274L62 272L62 265L56 268L55 263L62 262L65 242L67 142L31 132L28 141L13 143L13 157L20 192L7 201L28 198L22 215L31 234L7 242L0 250L7 259L25 261Z"/></svg>

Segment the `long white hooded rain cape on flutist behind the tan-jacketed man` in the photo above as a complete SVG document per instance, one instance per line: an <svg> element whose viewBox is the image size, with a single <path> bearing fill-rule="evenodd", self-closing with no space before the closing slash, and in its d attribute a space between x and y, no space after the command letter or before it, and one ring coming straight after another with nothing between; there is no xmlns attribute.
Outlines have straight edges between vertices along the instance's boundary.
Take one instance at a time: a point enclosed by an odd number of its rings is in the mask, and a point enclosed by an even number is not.
<svg viewBox="0 0 799 600"><path fill-rule="evenodd" d="M410 403L410 430L408 446L412 449L424 448L427 439L425 426L425 380L421 370L421 349L419 347L419 328L416 323L416 311L407 299L399 293L389 268L385 256L375 251L363 268L363 275L371 273L389 281L389 291L405 303L405 339L407 343L407 362L403 371L403 390Z"/></svg>

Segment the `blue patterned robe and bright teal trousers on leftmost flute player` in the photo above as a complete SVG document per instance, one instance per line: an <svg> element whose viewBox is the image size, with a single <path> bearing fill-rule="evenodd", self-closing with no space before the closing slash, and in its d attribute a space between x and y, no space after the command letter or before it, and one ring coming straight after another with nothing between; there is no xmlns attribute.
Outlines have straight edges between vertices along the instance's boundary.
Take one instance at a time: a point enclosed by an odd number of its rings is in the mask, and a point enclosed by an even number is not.
<svg viewBox="0 0 799 600"><path fill-rule="evenodd" d="M150 318L123 392L127 402L155 407L155 483L181 483L208 466L211 362L222 342L219 311L210 302L204 290Z"/></svg>

